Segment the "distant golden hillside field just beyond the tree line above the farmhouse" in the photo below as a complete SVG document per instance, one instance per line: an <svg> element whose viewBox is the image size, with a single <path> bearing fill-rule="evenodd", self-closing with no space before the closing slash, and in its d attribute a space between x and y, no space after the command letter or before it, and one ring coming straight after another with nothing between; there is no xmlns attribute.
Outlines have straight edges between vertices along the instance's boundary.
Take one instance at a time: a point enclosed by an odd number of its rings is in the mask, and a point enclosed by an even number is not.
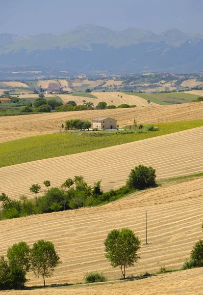
<svg viewBox="0 0 203 295"><path fill-rule="evenodd" d="M101 101L106 102L107 105L115 105L116 107L123 103L129 104L129 105L136 105L137 107L160 106L153 102L149 104L146 99L141 98L139 96L128 95L121 92L94 92L93 95L95 95L98 98L73 96L68 94L59 94L58 96L64 102L68 102L70 100L74 100L76 104L83 104L83 100L85 100L86 102L93 102L94 107L96 107L98 103Z"/></svg>

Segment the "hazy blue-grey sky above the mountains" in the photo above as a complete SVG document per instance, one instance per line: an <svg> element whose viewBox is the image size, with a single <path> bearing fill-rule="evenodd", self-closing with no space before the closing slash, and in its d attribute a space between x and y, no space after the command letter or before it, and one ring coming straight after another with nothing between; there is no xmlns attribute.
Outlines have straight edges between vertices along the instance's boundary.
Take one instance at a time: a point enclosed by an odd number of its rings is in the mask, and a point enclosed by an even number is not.
<svg viewBox="0 0 203 295"><path fill-rule="evenodd" d="M203 33L203 0L0 0L0 33L59 34L81 24Z"/></svg>

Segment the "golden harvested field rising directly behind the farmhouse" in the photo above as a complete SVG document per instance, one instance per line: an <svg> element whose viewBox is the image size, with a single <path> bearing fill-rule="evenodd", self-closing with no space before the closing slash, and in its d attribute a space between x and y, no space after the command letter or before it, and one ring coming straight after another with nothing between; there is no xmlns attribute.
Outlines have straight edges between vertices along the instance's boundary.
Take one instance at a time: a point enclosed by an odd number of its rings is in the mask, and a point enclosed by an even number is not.
<svg viewBox="0 0 203 295"><path fill-rule="evenodd" d="M177 122L203 118L203 102L181 105L113 110L60 112L25 116L0 117L0 143L34 135L57 132L68 119L90 120L110 117L118 121L120 127L133 124Z"/></svg>

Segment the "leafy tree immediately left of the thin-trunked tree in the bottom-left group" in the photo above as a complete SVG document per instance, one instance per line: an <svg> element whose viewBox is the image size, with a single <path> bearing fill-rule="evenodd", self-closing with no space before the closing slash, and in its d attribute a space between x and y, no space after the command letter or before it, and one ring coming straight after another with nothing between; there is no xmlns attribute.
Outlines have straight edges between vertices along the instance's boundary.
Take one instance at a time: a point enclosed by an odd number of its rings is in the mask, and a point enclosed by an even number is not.
<svg viewBox="0 0 203 295"><path fill-rule="evenodd" d="M30 269L30 249L29 246L21 241L17 244L13 244L11 248L8 248L7 258L9 261L9 266L11 268L20 266L25 274Z"/></svg>

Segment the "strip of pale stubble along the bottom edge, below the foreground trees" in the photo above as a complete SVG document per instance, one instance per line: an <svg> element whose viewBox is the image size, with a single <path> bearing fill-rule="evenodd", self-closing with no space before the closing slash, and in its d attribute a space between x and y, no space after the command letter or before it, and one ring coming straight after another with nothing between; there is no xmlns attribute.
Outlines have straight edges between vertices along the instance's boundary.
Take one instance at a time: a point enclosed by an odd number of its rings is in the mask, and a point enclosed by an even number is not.
<svg viewBox="0 0 203 295"><path fill-rule="evenodd" d="M136 281L77 285L30 291L3 291L9 295L202 295L202 268L161 274ZM136 290L136 293L135 293Z"/></svg>

